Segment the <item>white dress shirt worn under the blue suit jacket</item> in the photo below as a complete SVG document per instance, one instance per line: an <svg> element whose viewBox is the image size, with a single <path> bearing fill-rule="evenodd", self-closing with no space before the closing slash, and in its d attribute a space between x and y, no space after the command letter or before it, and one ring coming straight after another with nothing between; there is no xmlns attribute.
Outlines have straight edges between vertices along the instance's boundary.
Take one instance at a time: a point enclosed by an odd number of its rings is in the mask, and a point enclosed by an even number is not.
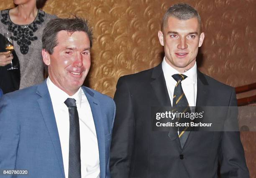
<svg viewBox="0 0 256 178"><path fill-rule="evenodd" d="M100 158L95 125L90 104L82 88L79 88L74 95L69 96L54 85L50 78L47 78L46 83L51 96L51 103L59 132L65 177L68 178L69 175L69 110L67 105L64 104L67 98L74 98L77 104L82 178L100 177Z"/></svg>

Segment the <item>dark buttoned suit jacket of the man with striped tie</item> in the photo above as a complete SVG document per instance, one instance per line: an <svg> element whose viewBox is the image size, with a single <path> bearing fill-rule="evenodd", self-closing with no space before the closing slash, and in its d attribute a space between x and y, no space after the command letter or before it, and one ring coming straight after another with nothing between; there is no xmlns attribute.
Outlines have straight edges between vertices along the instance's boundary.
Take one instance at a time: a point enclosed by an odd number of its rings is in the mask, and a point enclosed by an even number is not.
<svg viewBox="0 0 256 178"><path fill-rule="evenodd" d="M191 132L181 148L177 131L152 131L151 107L171 106L161 64L121 77L114 100L111 178L249 178L239 132ZM196 107L236 105L234 88L197 71Z"/></svg>

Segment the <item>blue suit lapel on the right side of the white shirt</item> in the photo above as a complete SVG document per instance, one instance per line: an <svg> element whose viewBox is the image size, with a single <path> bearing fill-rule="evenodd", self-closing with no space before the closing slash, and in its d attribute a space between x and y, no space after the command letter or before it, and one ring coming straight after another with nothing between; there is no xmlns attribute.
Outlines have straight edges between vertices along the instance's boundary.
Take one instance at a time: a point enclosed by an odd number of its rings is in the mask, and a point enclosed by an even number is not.
<svg viewBox="0 0 256 178"><path fill-rule="evenodd" d="M102 123L102 113L99 101L94 97L94 93L86 87L82 87L87 100L89 101L92 117L95 124L99 155L100 155L100 177L105 178L106 175L106 160L105 160L105 135L104 125Z"/></svg>

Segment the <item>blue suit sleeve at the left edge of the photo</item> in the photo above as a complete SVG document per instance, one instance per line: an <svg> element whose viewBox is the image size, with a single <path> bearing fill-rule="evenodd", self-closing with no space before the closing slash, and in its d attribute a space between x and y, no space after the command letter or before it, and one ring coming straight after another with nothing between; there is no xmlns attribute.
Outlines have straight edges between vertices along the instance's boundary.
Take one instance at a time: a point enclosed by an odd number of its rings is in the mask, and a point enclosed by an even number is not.
<svg viewBox="0 0 256 178"><path fill-rule="evenodd" d="M19 142L19 125L15 107L8 96L0 99L0 170L15 170L16 153ZM0 173L3 175L3 173ZM10 175L11 176L11 175ZM4 176L5 178L8 175Z"/></svg>

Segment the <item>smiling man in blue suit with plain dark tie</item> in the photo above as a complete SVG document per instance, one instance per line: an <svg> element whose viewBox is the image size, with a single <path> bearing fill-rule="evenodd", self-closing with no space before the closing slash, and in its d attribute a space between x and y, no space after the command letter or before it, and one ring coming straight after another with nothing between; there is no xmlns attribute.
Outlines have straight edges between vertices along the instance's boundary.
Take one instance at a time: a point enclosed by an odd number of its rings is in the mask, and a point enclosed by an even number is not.
<svg viewBox="0 0 256 178"><path fill-rule="evenodd" d="M0 100L1 175L28 170L31 178L108 178L115 103L82 86L92 30L80 18L55 19L42 42L47 80Z"/></svg>

